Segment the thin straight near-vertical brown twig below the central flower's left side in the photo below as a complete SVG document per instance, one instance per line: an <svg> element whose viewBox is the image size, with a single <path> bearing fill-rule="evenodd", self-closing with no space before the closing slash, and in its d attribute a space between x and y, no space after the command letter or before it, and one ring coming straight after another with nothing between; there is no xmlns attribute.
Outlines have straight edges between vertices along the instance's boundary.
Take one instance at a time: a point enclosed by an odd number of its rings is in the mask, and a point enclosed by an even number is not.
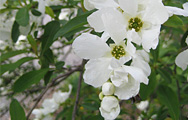
<svg viewBox="0 0 188 120"><path fill-rule="evenodd" d="M83 79L83 72L84 72L83 68L84 68L84 65L85 65L85 61L83 60L82 61L81 72L80 72L80 77L79 77L79 81L78 81L78 87L77 87L77 93L76 93L76 101L75 101L74 110L73 110L73 113L72 113L72 120L76 119L76 110L77 110L78 103L79 103L79 96L80 96L81 83L82 83L82 79Z"/></svg>

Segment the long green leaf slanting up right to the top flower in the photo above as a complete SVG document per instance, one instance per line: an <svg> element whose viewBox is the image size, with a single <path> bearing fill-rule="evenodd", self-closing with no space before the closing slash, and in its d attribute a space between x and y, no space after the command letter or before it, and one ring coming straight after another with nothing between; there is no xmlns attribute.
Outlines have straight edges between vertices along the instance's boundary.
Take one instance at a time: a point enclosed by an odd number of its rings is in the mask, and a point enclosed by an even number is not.
<svg viewBox="0 0 188 120"><path fill-rule="evenodd" d="M77 16L73 19L71 19L69 22L67 22L64 26L59 29L59 31L56 33L55 38L62 37L65 34L68 34L69 32L78 29L79 27L82 27L83 25L87 24L87 17L92 13L93 11L86 12L83 15Z"/></svg>

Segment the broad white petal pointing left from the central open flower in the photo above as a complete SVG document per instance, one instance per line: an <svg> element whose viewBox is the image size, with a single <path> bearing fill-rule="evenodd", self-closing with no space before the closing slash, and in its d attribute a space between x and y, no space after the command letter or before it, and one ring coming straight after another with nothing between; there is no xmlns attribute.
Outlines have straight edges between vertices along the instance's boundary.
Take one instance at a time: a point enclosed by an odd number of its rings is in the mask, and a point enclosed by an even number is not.
<svg viewBox="0 0 188 120"><path fill-rule="evenodd" d="M72 47L76 55L84 59L99 58L110 51L108 45L101 38L89 33L83 33L77 37Z"/></svg>

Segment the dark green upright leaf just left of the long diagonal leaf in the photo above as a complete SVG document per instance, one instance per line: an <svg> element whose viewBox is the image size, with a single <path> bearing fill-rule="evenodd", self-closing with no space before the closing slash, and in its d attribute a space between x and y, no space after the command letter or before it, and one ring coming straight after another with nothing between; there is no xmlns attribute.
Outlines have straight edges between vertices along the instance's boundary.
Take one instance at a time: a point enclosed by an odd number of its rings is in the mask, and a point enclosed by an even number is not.
<svg viewBox="0 0 188 120"><path fill-rule="evenodd" d="M42 36L42 55L54 42L54 35L60 28L58 21L49 22L44 28L44 35Z"/></svg>

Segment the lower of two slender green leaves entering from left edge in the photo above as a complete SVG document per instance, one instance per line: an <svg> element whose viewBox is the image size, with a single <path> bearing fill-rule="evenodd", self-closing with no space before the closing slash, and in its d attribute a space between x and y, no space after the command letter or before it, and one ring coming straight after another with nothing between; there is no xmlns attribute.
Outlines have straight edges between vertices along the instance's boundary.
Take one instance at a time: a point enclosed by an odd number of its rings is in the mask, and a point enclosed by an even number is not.
<svg viewBox="0 0 188 120"><path fill-rule="evenodd" d="M28 62L28 61L33 60L33 59L36 59L36 58L34 58L34 57L24 57L24 58L18 60L17 62L15 62L15 63L1 65L0 75L3 75L7 71L15 70L16 68L18 68L23 63Z"/></svg>

